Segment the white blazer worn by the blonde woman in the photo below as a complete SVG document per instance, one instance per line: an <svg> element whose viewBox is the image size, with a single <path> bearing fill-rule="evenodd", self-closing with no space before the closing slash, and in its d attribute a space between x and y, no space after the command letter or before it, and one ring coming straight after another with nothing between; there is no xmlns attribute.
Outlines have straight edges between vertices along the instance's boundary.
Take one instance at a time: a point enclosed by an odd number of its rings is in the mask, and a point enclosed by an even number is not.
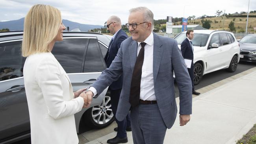
<svg viewBox="0 0 256 144"><path fill-rule="evenodd" d="M67 73L50 52L27 57L24 84L32 144L78 144L74 114L83 98L74 98Z"/></svg>

